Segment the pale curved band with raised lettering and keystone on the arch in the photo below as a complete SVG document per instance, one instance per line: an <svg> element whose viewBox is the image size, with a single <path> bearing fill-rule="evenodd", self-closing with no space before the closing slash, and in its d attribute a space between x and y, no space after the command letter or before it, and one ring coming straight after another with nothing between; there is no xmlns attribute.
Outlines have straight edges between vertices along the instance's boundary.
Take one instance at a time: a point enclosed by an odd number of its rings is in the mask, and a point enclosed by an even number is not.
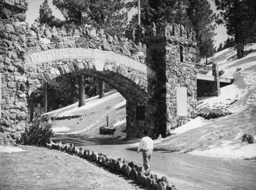
<svg viewBox="0 0 256 190"><path fill-rule="evenodd" d="M140 63L129 57L116 54L110 51L100 51L97 49L85 49L85 48L64 48L64 49L52 49L42 52L35 52L25 57L25 67L35 66L38 63L62 60L62 59L93 59L95 60L95 67L97 70L102 71L104 63L106 61L114 62L117 64L123 64L131 67L139 72L147 75L148 78L155 79L157 74L155 70Z"/></svg>

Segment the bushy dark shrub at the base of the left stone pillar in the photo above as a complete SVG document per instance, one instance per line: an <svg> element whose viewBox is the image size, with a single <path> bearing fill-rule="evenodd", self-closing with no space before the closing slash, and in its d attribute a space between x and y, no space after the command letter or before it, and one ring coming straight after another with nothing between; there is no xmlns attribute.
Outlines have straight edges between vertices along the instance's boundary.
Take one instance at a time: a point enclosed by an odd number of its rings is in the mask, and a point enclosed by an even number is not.
<svg viewBox="0 0 256 190"><path fill-rule="evenodd" d="M43 124L41 125L41 123ZM22 135L22 143L24 145L46 146L52 136L52 125L38 119L32 123L31 127L25 129Z"/></svg>

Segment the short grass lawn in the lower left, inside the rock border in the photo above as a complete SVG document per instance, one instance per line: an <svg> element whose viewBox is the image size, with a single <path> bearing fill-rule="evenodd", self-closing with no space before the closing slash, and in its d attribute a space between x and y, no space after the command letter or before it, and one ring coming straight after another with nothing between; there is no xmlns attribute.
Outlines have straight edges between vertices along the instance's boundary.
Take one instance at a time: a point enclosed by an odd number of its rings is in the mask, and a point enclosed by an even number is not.
<svg viewBox="0 0 256 190"><path fill-rule="evenodd" d="M77 156L21 146L0 154L0 189L143 189Z"/></svg>

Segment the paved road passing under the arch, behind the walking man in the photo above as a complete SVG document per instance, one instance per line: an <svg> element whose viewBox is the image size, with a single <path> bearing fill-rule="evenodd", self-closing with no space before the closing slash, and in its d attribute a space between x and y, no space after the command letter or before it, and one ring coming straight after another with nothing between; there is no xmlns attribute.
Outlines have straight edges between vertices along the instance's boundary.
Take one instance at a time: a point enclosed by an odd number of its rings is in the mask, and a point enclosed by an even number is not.
<svg viewBox="0 0 256 190"><path fill-rule="evenodd" d="M87 140L72 138L68 141L72 140L72 143L79 147L108 153L115 158L125 158L139 166L142 165L142 153L137 154L134 145L99 145L104 144L104 141L88 143ZM154 151L150 163L152 173L159 177L166 176L180 190L256 189L256 162L252 160L220 159Z"/></svg>

